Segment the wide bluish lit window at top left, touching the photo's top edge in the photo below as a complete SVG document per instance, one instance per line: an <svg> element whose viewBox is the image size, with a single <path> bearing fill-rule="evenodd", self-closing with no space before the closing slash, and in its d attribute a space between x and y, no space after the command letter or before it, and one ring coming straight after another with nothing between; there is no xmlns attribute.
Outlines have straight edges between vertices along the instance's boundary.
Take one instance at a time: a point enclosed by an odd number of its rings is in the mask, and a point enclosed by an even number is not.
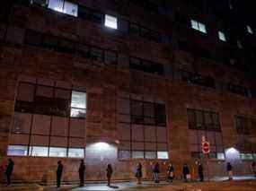
<svg viewBox="0 0 256 191"><path fill-rule="evenodd" d="M78 5L64 0L49 0L49 9L76 17Z"/></svg>

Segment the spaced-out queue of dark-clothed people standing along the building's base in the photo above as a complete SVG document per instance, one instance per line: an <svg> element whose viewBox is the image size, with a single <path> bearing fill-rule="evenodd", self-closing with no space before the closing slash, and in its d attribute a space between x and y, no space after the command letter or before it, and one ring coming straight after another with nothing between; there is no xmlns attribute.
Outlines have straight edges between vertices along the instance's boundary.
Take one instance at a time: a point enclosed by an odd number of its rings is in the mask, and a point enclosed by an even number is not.
<svg viewBox="0 0 256 191"><path fill-rule="evenodd" d="M199 181L204 181L204 169L203 169L203 165L200 162L197 162L198 165L198 178ZM13 174L13 167L14 167L14 162L12 159L8 159L7 165L5 166L5 171L4 171L4 175L6 178L6 187L11 185L11 177ZM61 186L61 178L62 178L62 174L63 174L63 169L64 166L62 164L61 161L57 161L57 170L56 170L56 182L57 182L57 187ZM79 187L84 187L84 176L85 176L85 164L84 164L84 160L81 160L80 162L80 166L78 169L78 174L79 174L79 179L80 179L80 183L79 183ZM256 163L255 161L252 162L251 165L251 169L252 169L252 174L254 177L256 177ZM136 166L136 172L135 172L135 177L137 178L137 184L140 185L141 179L143 177L143 166L140 162L137 163ZM189 166L184 163L183 167L181 169L182 172L182 178L185 182L189 181L191 179L191 175L190 175L190 168ZM229 179L233 179L233 166L230 162L226 163L226 172L227 172L227 176ZM159 183L159 173L160 173L160 165L158 162L154 162L154 164L152 165L152 175L153 175L153 179L154 179L154 183ZM107 165L106 168L106 178L107 178L107 186L110 186L110 180L113 174L113 169L111 164ZM174 167L172 165L172 163L169 163L167 169L166 169L166 181L167 182L171 182L173 181L173 179L175 178L175 172L174 172Z"/></svg>

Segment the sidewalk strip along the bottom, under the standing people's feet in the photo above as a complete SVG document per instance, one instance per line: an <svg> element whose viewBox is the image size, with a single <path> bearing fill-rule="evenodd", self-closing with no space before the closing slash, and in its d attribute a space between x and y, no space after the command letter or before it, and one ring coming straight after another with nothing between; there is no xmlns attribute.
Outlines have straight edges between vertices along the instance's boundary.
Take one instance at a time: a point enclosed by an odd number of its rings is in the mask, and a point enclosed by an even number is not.
<svg viewBox="0 0 256 191"><path fill-rule="evenodd" d="M187 190L188 187L191 186L198 186L201 184L210 184L214 185L217 182L219 183L225 183L228 182L226 181L228 178L227 177L216 177L212 178L210 182L204 182L200 183L198 181L190 181L188 183L184 183L181 180L174 180L172 184L166 182L166 181L161 181L160 183L156 184L153 181L144 181L142 185L137 185L136 182L120 182L120 183L113 183L113 187L107 187L106 184L92 184L88 183L84 187L78 187L77 185L62 185L60 188L56 188L55 186L40 186L37 184L13 184L10 187L4 187L4 185L0 185L0 190L1 191L51 191L51 190L73 190L73 191L106 191L106 190L165 190L165 189L171 189L171 190ZM256 180L256 178L252 176L234 176L234 181L233 182L238 182L238 181L248 181L248 180ZM255 188L256 190L256 188Z"/></svg>

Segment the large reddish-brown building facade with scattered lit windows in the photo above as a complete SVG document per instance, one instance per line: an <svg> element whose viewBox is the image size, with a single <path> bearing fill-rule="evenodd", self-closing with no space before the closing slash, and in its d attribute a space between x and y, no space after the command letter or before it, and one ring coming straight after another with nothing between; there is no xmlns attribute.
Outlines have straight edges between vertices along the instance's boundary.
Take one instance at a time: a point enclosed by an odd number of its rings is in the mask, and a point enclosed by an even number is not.
<svg viewBox="0 0 256 191"><path fill-rule="evenodd" d="M255 25L220 20L228 4L189 2L3 3L0 156L13 158L14 179L51 181L61 160L76 181L81 159L88 180L105 179L108 163L114 179L134 178L137 161L144 178L154 161L163 177L172 161L196 178L202 135L211 177L226 161L251 173Z"/></svg>

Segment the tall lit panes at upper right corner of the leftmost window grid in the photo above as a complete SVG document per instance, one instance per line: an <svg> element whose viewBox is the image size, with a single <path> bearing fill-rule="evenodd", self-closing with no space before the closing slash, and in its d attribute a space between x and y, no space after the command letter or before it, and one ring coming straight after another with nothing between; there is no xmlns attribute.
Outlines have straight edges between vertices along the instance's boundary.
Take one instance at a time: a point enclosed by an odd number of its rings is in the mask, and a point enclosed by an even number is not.
<svg viewBox="0 0 256 191"><path fill-rule="evenodd" d="M85 117L86 114L86 93L72 91L70 117Z"/></svg>

